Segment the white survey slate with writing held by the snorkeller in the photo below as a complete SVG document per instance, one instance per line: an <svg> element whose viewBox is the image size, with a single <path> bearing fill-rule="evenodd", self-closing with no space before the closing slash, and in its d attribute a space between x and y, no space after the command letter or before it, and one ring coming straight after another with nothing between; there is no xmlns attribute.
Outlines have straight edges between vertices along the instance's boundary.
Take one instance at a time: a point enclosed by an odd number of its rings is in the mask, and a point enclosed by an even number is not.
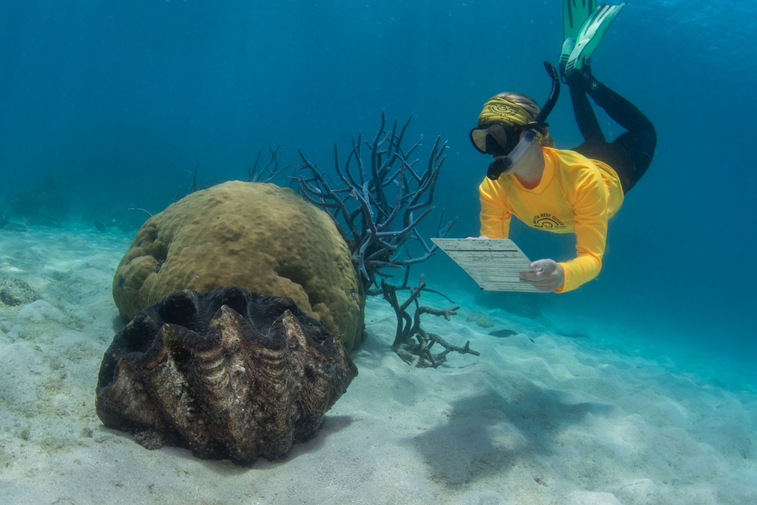
<svg viewBox="0 0 757 505"><path fill-rule="evenodd" d="M463 267L469 276L486 291L540 292L527 282L520 282L520 273L529 268L531 260L509 238L431 238L439 248Z"/></svg>

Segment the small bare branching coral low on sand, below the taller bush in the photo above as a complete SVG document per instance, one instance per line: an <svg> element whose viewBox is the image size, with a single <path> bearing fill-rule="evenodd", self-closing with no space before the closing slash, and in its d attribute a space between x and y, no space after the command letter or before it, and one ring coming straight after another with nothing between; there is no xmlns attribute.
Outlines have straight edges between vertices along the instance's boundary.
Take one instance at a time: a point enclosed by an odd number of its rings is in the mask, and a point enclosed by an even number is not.
<svg viewBox="0 0 757 505"><path fill-rule="evenodd" d="M466 341L466 344L461 348L459 346L448 343L444 338L441 338L435 333L427 332L421 328L421 316L423 314L431 314L432 316L442 316L445 320L449 321L450 316L455 316L459 306L452 307L450 309L438 310L418 303L422 291L425 290L426 284L423 282L423 276L421 276L418 285L410 292L410 296L402 304L397 300L397 287L388 284L382 279L382 290L384 291L384 298L389 302L394 309L394 313L397 315L397 335L394 337L394 343L391 344L391 349L397 356L402 358L405 363L413 364L419 367L433 367L436 368L441 363L447 360L447 354L452 351L459 352L460 354L473 354L480 356L478 351L473 351L470 348L470 341ZM410 318L410 314L407 313L407 307L410 304L416 304L416 312L413 314L413 318ZM413 341L413 337L416 341ZM431 348L435 344L441 345L444 351L441 353L431 353Z"/></svg>

